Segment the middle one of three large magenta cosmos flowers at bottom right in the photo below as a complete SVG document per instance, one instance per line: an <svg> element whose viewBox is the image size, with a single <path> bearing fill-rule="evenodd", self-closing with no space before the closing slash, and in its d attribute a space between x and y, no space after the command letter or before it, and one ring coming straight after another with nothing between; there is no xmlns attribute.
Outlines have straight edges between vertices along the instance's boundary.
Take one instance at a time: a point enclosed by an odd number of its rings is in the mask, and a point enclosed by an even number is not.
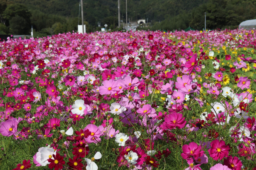
<svg viewBox="0 0 256 170"><path fill-rule="evenodd" d="M219 141L218 139L211 142L211 148L208 150L212 159L217 161L218 159L223 159L228 156L230 147L225 145L223 140Z"/></svg>

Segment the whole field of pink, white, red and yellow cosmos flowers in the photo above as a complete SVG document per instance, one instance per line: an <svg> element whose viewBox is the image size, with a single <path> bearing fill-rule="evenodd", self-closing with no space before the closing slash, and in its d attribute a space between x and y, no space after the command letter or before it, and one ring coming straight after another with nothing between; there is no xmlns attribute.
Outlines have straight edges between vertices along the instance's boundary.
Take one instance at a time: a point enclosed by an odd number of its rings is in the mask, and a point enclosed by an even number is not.
<svg viewBox="0 0 256 170"><path fill-rule="evenodd" d="M0 167L256 170L253 30L0 42Z"/></svg>

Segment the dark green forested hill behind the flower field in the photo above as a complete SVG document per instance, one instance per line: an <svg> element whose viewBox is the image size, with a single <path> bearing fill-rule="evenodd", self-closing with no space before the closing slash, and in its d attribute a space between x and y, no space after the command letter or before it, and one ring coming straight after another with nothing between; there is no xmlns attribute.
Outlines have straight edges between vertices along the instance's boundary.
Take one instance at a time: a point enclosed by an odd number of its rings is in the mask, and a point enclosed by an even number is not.
<svg viewBox="0 0 256 170"><path fill-rule="evenodd" d="M118 25L117 0L83 0L87 31L103 25ZM125 0L120 0L121 20L125 23ZM128 20L145 19L146 29L237 28L244 20L256 17L255 0L127 0ZM76 31L79 0L0 0L0 34L29 34L31 25L36 34L49 35ZM98 27L98 23L101 27ZM18 26L20 29L18 29Z"/></svg>

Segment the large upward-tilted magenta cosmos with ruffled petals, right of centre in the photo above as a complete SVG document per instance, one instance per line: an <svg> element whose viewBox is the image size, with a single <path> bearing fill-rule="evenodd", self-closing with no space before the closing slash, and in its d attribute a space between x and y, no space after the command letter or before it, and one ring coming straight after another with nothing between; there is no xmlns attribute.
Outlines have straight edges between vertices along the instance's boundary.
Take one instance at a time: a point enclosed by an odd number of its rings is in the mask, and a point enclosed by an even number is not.
<svg viewBox="0 0 256 170"><path fill-rule="evenodd" d="M172 113L166 116L163 122L163 129L174 129L174 128L183 128L186 125L185 118L182 118L181 113Z"/></svg>

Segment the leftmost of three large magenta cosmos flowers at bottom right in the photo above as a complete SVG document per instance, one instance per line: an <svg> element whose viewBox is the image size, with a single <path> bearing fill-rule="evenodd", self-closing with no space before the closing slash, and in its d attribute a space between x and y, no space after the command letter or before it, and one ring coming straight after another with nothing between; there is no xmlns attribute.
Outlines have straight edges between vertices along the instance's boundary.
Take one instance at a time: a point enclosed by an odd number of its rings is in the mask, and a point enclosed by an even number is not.
<svg viewBox="0 0 256 170"><path fill-rule="evenodd" d="M204 155L204 150L201 150L201 145L198 146L195 142L190 142L189 145L185 144L182 147L183 153L181 153L181 157L183 159L189 159L194 156L195 160L198 159L198 157L201 157Z"/></svg>

